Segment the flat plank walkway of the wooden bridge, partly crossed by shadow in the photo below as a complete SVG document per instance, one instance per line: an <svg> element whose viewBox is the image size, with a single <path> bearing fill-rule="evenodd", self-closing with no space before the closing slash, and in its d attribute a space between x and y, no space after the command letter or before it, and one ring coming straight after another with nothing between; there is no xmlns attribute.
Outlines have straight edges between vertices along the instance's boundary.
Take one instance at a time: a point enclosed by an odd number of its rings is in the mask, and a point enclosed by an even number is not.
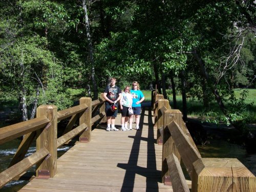
<svg viewBox="0 0 256 192"><path fill-rule="evenodd" d="M162 145L156 144L153 119L143 109L140 131L135 124L126 132L98 126L89 143L77 142L58 158L53 178L35 178L19 191L173 191L161 183Z"/></svg>

